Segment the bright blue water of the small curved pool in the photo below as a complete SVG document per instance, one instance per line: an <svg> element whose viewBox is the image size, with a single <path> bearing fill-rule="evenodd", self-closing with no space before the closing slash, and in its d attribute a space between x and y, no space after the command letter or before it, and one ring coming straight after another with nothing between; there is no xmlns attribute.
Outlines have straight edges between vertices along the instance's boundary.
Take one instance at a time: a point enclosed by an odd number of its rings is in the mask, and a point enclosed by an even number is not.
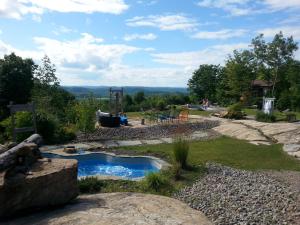
<svg viewBox="0 0 300 225"><path fill-rule="evenodd" d="M105 153L90 153L72 156L60 156L43 153L46 158L76 159L78 177L106 175L127 179L142 178L149 172L159 171L154 159L147 157L118 157Z"/></svg>

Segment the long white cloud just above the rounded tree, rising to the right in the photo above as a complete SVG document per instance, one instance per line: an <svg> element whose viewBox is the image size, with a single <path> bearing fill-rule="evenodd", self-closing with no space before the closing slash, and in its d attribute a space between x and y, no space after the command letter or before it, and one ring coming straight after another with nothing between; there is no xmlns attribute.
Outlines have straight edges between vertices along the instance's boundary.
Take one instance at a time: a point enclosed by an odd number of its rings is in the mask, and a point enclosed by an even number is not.
<svg viewBox="0 0 300 225"><path fill-rule="evenodd" d="M245 49L248 44L215 45L200 51L152 54L155 62L197 68L200 64L224 64L226 57L235 49Z"/></svg>

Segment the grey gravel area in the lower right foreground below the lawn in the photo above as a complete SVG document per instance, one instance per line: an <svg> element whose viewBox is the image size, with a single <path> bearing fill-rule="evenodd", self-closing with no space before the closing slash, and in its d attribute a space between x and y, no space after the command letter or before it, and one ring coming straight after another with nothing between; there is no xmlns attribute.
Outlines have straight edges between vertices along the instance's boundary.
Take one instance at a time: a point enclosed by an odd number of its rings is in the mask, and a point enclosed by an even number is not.
<svg viewBox="0 0 300 225"><path fill-rule="evenodd" d="M260 172L207 164L208 174L176 194L217 225L296 224L299 193Z"/></svg>

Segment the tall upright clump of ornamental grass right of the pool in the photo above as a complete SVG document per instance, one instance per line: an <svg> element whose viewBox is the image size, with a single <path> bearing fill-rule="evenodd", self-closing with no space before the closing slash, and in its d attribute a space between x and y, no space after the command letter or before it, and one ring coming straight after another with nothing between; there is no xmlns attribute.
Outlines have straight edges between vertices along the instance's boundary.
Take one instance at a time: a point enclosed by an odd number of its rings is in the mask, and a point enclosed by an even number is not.
<svg viewBox="0 0 300 225"><path fill-rule="evenodd" d="M189 143L183 138L178 138L174 142L173 152L175 161L182 169L187 168L187 158L189 154Z"/></svg>

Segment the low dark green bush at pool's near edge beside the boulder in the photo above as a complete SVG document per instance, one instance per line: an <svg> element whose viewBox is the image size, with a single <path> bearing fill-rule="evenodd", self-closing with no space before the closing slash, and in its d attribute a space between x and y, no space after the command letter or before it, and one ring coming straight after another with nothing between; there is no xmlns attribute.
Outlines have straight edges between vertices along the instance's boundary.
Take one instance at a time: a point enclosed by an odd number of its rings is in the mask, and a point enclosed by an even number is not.
<svg viewBox="0 0 300 225"><path fill-rule="evenodd" d="M86 177L78 181L78 188L81 193L100 192L104 183L96 177Z"/></svg>

